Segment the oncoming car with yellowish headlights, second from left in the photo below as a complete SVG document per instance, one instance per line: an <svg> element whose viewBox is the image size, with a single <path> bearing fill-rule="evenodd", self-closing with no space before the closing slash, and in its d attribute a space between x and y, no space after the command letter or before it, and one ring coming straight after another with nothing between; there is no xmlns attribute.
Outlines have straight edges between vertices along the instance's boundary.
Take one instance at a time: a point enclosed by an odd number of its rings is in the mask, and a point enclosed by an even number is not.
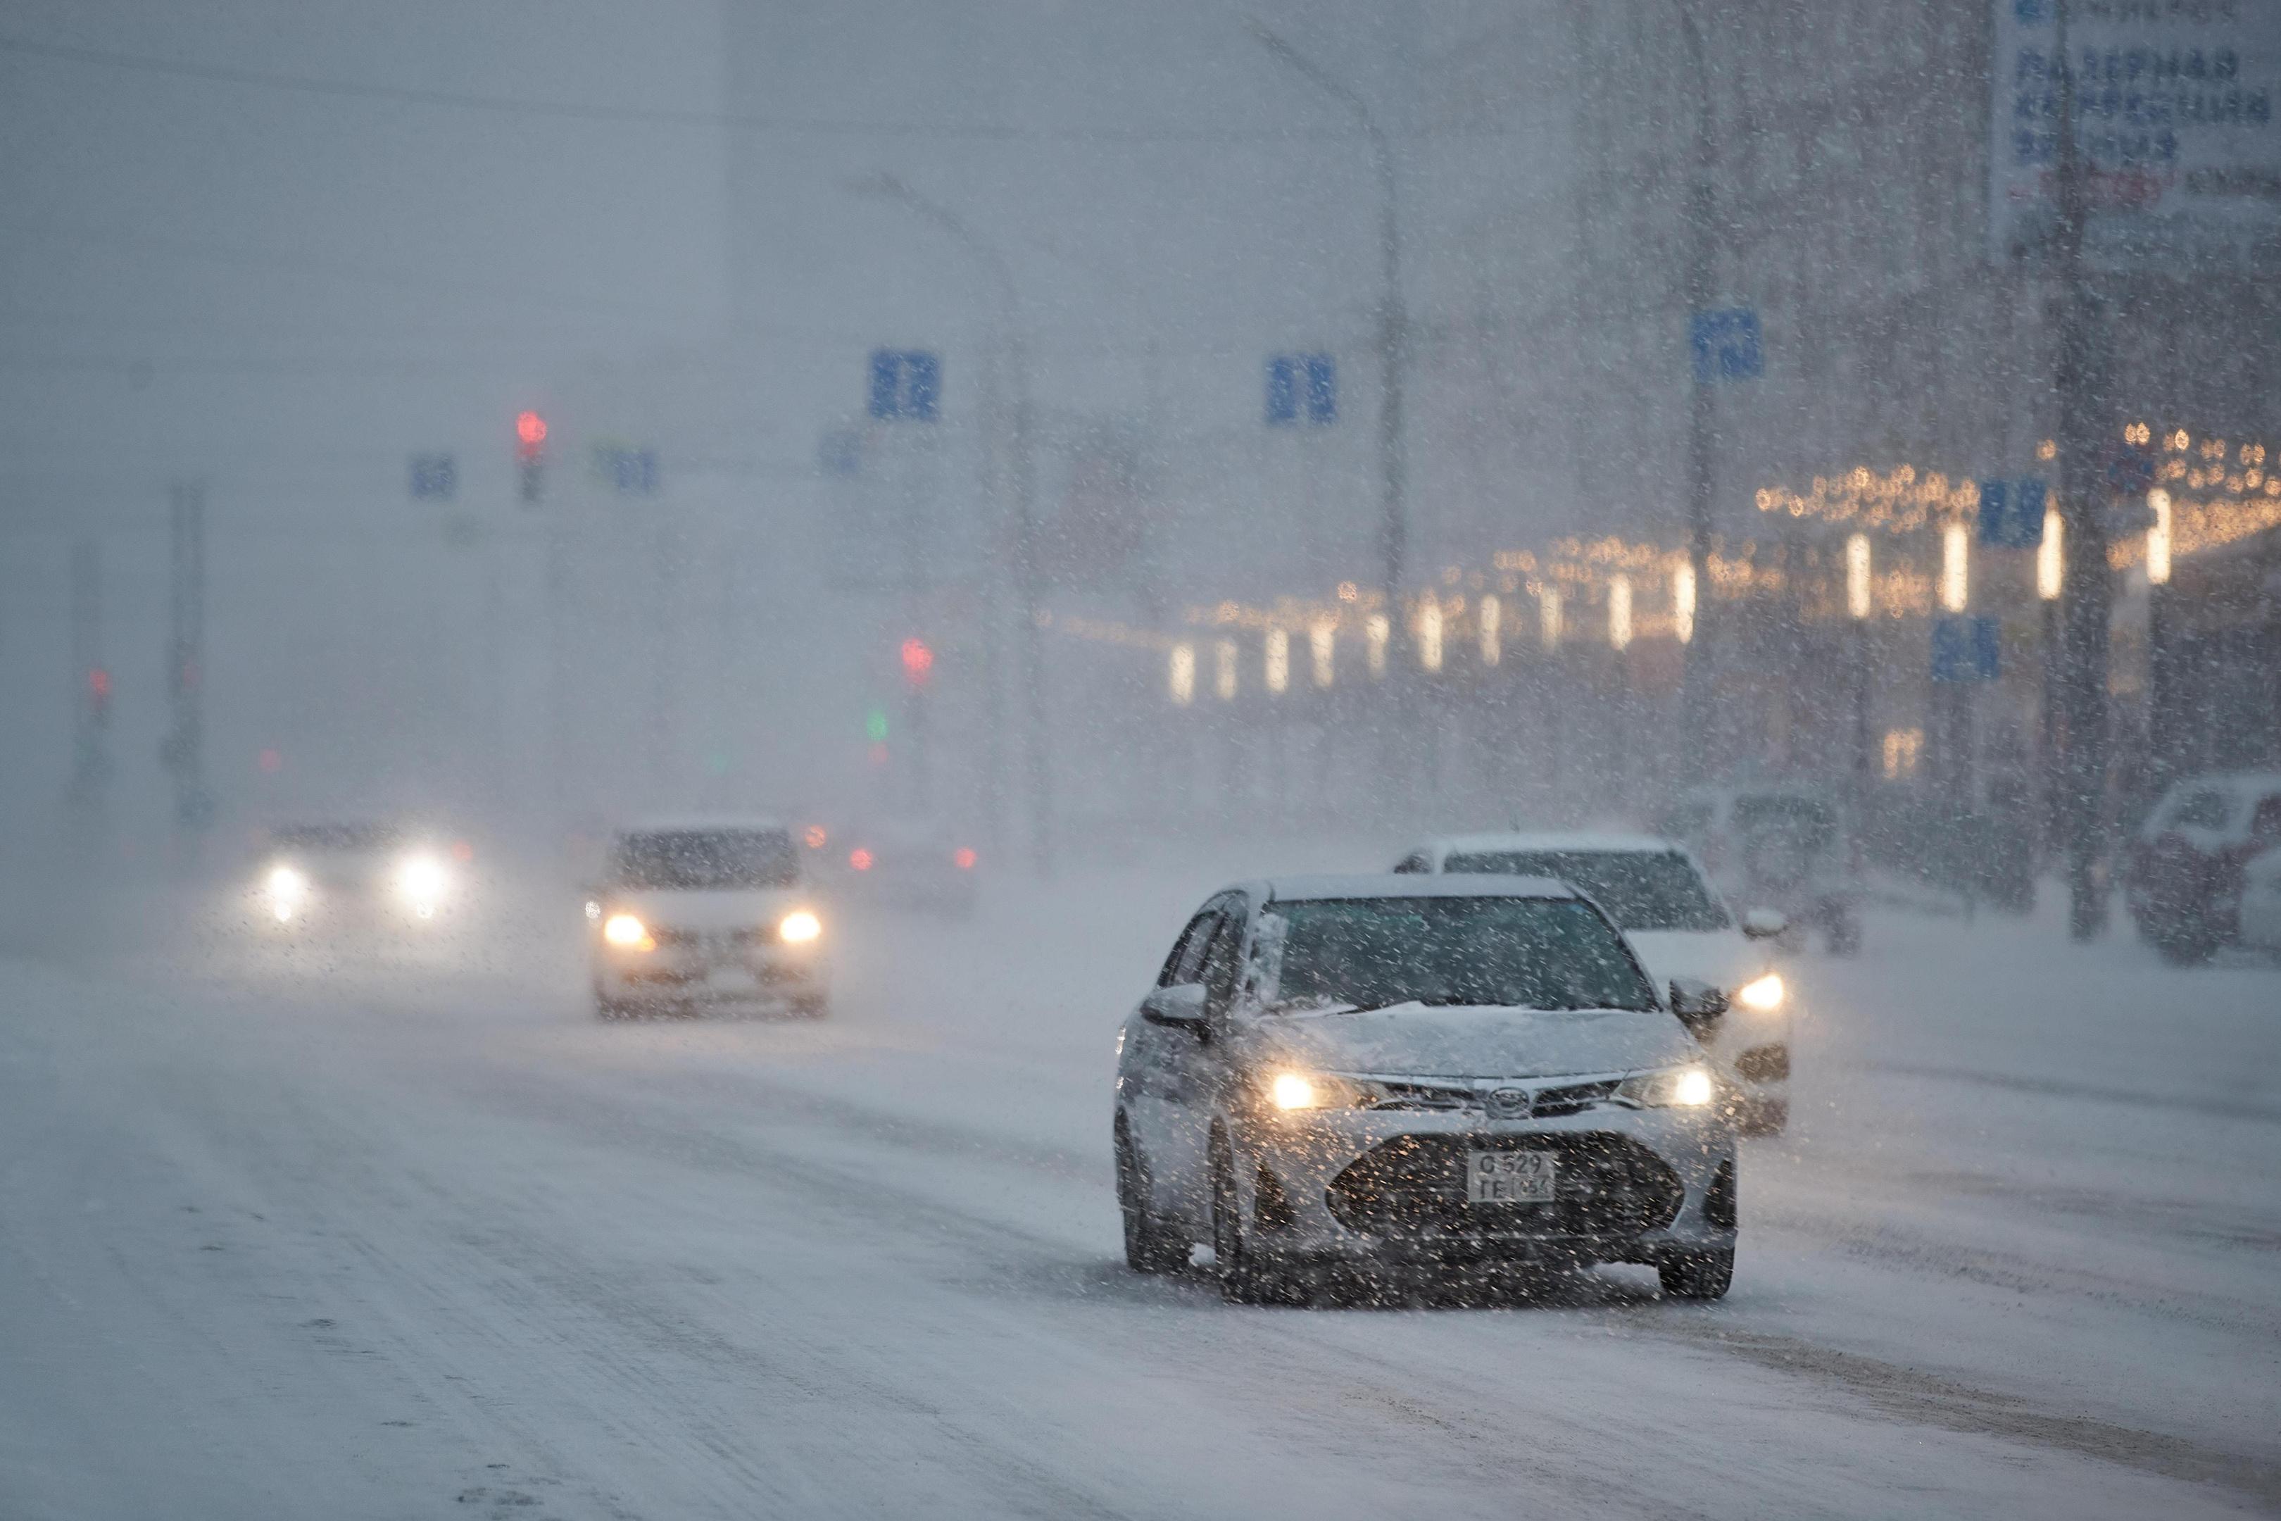
<svg viewBox="0 0 2281 1521"><path fill-rule="evenodd" d="M588 887L595 1012L830 1008L826 917L792 830L755 819L623 828Z"/></svg>

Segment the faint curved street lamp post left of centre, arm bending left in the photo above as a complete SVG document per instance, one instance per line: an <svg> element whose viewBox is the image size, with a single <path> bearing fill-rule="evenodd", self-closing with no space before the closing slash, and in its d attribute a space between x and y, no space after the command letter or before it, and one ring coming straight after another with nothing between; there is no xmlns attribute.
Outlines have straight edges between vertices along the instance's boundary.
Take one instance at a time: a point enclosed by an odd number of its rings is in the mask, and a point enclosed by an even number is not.
<svg viewBox="0 0 2281 1521"><path fill-rule="evenodd" d="M999 347L1006 351L1006 367L1013 383L1013 422L1008 438L1008 465L1013 474L1013 584L1022 609L1022 627L1015 634L1022 680L1022 759L1029 782L1029 846L1040 873L1054 869L1054 782L1045 757L1045 654L1038 643L1038 522L1036 522L1036 454L1031 445L1031 392L1029 392L1029 347L1022 340L1022 296L1013 278L1013 267L995 246L983 242L956 212L940 201L922 196L899 176L880 173L858 182L860 194L899 201L926 221L958 239L974 260L990 271L990 285L999 303ZM988 618L988 613L985 613ZM992 680L995 686L995 680ZM997 787L997 778L985 780Z"/></svg>

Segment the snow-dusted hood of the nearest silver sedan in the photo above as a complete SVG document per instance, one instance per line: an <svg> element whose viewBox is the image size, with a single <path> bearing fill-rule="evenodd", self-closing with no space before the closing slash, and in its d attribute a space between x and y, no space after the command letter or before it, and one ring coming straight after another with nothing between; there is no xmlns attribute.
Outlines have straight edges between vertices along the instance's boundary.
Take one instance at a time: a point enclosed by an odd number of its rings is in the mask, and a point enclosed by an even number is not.
<svg viewBox="0 0 2281 1521"><path fill-rule="evenodd" d="M1426 1008L1364 1015L1271 1015L1257 1026L1268 1060L1382 1076L1565 1076L1633 1072L1699 1056L1663 1010Z"/></svg>

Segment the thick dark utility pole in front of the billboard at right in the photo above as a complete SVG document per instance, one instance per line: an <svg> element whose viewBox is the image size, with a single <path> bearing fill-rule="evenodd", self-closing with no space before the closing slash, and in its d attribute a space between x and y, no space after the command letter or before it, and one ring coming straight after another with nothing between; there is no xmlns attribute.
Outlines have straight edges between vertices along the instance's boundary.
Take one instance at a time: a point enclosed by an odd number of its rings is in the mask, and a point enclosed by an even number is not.
<svg viewBox="0 0 2281 1521"><path fill-rule="evenodd" d="M2060 581L2060 837L2067 844L2069 935L2094 940L2108 924L2101 876L2108 796L2108 618L2114 581L2108 572L2108 520L2099 490L2099 310L2083 274L2083 233L2089 221L2083 148L2076 141L2076 71L2067 55L2069 0L2057 0L2060 219L2053 239L2057 290L2060 408L2057 490L2067 561Z"/></svg>

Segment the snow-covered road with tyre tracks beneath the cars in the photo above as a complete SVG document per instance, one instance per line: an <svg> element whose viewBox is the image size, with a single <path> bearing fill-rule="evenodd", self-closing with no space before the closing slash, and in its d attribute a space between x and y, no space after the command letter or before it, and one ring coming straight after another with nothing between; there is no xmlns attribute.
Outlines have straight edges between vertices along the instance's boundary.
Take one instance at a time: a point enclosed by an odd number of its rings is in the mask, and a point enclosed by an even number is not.
<svg viewBox="0 0 2281 1521"><path fill-rule="evenodd" d="M828 1024L9 965L0 1516L2281 1510L2281 974L1882 919L1727 1302L1234 1309L1109 1188L1211 885L849 926Z"/></svg>

